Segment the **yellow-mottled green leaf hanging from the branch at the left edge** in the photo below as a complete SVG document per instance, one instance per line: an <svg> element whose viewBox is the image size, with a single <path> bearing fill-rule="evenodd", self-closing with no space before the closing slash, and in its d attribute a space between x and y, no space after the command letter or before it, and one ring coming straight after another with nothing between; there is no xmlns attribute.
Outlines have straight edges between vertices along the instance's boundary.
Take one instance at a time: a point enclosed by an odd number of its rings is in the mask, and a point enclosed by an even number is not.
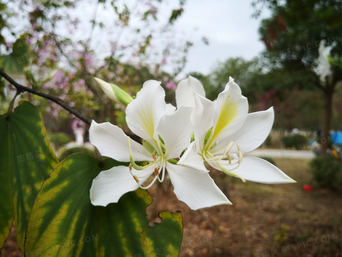
<svg viewBox="0 0 342 257"><path fill-rule="evenodd" d="M0 115L0 146L0 248L15 218L17 242L23 250L32 205L58 164L37 107L21 101L9 119Z"/></svg>

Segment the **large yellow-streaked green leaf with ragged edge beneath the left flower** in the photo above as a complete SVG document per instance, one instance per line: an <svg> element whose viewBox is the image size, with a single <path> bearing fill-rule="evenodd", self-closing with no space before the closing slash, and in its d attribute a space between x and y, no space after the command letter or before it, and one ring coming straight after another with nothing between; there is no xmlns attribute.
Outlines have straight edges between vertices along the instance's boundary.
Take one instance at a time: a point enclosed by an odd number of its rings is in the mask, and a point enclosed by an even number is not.
<svg viewBox="0 0 342 257"><path fill-rule="evenodd" d="M123 163L100 161L87 154L64 159L46 180L33 206L25 252L42 256L178 256L183 220L180 212L161 211L161 223L149 226L146 208L153 201L147 190L124 194L118 203L93 206L89 190L101 172ZM124 163L127 166L127 163ZM129 171L127 171L129 172Z"/></svg>

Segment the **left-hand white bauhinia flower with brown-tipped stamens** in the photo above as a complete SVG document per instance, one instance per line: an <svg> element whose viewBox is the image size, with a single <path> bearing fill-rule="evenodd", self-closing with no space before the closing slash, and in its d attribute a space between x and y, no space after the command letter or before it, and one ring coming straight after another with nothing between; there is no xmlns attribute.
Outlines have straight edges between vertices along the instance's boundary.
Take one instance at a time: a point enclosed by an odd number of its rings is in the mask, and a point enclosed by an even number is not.
<svg viewBox="0 0 342 257"><path fill-rule="evenodd" d="M143 145L130 140L118 126L92 121L90 137L98 138L93 145L101 155L131 162L130 167L119 166L100 172L90 189L92 204L106 206L116 203L129 191L138 187L148 188L156 180L162 182L166 170L174 193L190 208L231 204L206 169L198 172L176 165L174 158L180 157L188 147L193 134L189 117L194 108L182 106L176 111L172 107L169 107L171 111L167 110L165 91L160 82L150 80L144 83L136 99L126 109L127 125L134 134L144 139ZM141 167L135 163L143 160L149 164ZM142 186L152 174L155 175L152 183Z"/></svg>

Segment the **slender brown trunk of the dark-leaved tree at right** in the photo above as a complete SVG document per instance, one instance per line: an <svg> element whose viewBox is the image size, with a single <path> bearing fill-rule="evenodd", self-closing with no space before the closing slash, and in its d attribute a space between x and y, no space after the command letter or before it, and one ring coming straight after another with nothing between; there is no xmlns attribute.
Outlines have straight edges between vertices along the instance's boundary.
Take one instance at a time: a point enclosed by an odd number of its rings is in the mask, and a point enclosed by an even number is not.
<svg viewBox="0 0 342 257"><path fill-rule="evenodd" d="M327 155L329 130L330 130L330 122L331 122L331 106L332 106L332 95L333 95L333 86L329 87L326 85L324 90L324 123L323 123L323 136L321 138L321 156Z"/></svg>

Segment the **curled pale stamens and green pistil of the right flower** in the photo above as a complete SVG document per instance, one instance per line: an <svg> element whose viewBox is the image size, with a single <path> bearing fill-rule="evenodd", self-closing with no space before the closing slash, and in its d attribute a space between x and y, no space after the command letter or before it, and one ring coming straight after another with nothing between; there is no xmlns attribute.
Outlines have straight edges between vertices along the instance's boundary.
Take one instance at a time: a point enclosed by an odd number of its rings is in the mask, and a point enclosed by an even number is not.
<svg viewBox="0 0 342 257"><path fill-rule="evenodd" d="M242 178L240 175L232 172L233 170L237 169L242 162L242 152L241 152L241 148L238 144L236 144L236 146L237 146L237 149L239 151L239 158L237 159L237 161L232 162L232 156L231 156L231 154L229 154L229 151L232 149L233 144L234 144L234 142L232 141L231 143L229 143L227 145L227 147L224 150L223 155L213 156L211 154L210 150L204 149L202 152L203 159L211 167L215 168L216 170L222 170L227 175L238 177L243 182L246 182L246 180L244 178ZM235 166L233 167L233 165L235 165ZM223 166L232 166L232 168L227 170Z"/></svg>

